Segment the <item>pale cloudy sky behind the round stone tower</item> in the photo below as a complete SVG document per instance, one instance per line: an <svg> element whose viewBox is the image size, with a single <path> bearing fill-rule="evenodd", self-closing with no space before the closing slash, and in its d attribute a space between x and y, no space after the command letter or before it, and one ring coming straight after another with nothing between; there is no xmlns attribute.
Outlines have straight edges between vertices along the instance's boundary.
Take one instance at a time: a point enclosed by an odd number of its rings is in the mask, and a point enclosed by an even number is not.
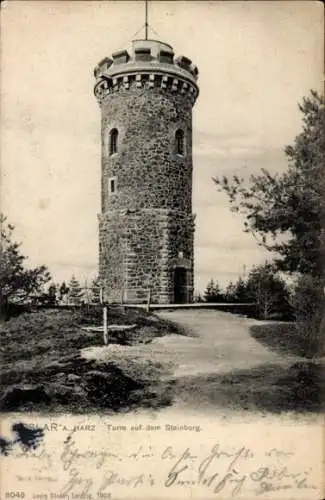
<svg viewBox="0 0 325 500"><path fill-rule="evenodd" d="M144 2L15 1L1 10L0 209L28 265L55 281L97 272L100 110L93 69L144 30ZM151 38L199 68L193 110L195 290L270 258L212 177L286 167L298 102L322 89L323 7L313 1L149 1ZM140 30L140 32L139 32ZM137 33L138 32L138 33Z"/></svg>

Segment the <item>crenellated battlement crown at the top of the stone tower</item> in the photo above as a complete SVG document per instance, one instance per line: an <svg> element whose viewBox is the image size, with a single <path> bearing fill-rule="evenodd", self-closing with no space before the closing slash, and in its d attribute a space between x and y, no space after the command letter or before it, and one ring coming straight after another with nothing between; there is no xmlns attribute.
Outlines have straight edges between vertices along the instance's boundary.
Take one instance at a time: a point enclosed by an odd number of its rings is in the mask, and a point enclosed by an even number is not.
<svg viewBox="0 0 325 500"><path fill-rule="evenodd" d="M159 40L134 40L129 52L120 50L100 61L94 75L99 103L107 94L131 86L179 91L193 104L199 93L197 66L185 56L175 58L173 48Z"/></svg>

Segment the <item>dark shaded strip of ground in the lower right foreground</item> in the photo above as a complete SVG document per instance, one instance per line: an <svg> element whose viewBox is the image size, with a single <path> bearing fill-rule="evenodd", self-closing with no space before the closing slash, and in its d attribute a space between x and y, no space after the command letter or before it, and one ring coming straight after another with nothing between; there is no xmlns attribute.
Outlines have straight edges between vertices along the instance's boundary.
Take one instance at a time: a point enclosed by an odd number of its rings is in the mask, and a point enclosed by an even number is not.
<svg viewBox="0 0 325 500"><path fill-rule="evenodd" d="M325 366L302 361L186 376L167 382L162 392L202 412L320 413L325 411Z"/></svg>

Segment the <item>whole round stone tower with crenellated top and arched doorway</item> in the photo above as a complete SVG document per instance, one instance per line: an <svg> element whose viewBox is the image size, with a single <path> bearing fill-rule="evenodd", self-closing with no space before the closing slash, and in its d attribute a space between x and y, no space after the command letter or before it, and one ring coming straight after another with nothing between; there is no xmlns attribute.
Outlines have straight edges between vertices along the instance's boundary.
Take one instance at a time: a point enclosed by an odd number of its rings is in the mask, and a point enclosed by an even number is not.
<svg viewBox="0 0 325 500"><path fill-rule="evenodd" d="M158 40L95 68L101 108L99 277L108 302L193 300L192 107L198 69ZM150 292L149 292L150 290Z"/></svg>

